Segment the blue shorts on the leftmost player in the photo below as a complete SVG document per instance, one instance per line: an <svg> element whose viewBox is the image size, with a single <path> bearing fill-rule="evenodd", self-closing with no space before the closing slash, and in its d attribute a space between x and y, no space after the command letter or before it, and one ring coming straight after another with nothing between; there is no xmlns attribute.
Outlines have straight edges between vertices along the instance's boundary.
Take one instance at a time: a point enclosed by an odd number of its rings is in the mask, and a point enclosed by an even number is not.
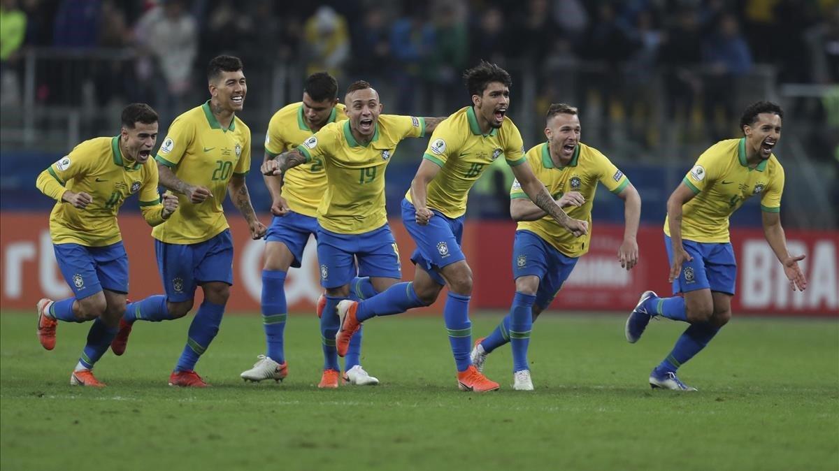
<svg viewBox="0 0 839 471"><path fill-rule="evenodd" d="M103 247L55 244L53 250L76 299L93 296L102 289L128 293L128 254L122 241Z"/></svg>

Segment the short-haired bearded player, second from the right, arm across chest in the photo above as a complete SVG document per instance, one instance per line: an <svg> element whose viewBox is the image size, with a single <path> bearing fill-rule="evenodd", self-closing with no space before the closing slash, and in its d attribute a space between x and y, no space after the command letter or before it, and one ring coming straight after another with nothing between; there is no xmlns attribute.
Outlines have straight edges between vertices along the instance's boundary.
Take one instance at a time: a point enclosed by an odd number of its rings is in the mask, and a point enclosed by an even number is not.
<svg viewBox="0 0 839 471"><path fill-rule="evenodd" d="M605 155L580 142L580 133L576 107L551 105L545 127L548 141L528 151L528 163L557 204L571 208L568 215L585 220L590 227L597 182L623 199L625 223L618 261L630 270L638 261L641 197ZM528 199L518 181L510 189L510 215L519 221L513 242L513 306L492 334L477 340L470 359L482 371L487 355L509 342L513 349L513 389L533 391L527 360L532 323L550 306L577 260L588 251L591 233L574 237Z"/></svg>

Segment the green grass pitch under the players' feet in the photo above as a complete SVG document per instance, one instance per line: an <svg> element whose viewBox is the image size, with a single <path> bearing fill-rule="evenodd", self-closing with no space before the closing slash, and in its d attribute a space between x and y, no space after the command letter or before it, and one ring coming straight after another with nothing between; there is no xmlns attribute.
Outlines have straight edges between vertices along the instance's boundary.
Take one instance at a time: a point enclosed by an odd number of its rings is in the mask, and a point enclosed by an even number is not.
<svg viewBox="0 0 839 471"><path fill-rule="evenodd" d="M33 309L34 310L34 309ZM499 313L475 313L487 334ZM258 316L228 315L196 370L213 387L166 386L190 318L138 322L102 390L69 386L87 325L60 323L41 349L34 313L0 315L0 467L26 469L755 469L839 468L839 322L734 318L680 370L697 393L647 375L684 325L638 344L624 316L534 324L536 391L512 391L509 348L487 360L502 390L457 390L442 319L367 323L362 364L381 386L319 391L313 315L289 316L282 384L244 384L263 353Z"/></svg>

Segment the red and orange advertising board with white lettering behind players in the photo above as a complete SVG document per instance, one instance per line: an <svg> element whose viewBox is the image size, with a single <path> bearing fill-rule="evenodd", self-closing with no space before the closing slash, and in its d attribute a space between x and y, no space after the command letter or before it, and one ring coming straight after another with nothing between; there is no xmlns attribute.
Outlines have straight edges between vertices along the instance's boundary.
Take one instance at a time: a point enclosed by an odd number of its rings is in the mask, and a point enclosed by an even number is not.
<svg viewBox="0 0 839 471"><path fill-rule="evenodd" d="M268 216L263 215L268 222ZM261 290L263 241L251 241L239 217L231 217L236 258L231 311L258 312ZM132 298L162 292L149 226L138 215L120 217L120 226L131 270ZM414 243L399 220L391 225L403 262L404 277L413 277L409 258ZM475 280L473 308L506 309L513 297L511 257L515 224L512 221L468 221L463 246ZM622 225L595 224L591 251L577 262L571 277L552 308L563 311L628 312L638 294L653 289L669 293L669 271L660 226L638 232L640 262L627 272L618 264ZM793 292L762 230L734 230L732 244L737 256L735 314L839 315L839 232L788 230L789 251L803 253L802 268L809 281L805 292ZM70 288L55 262L46 214L0 214L2 256L2 307L28 309L41 297L63 298ZM315 243L306 246L303 267L289 272L286 298L290 311L314 309L320 294ZM431 312L440 312L441 297Z"/></svg>

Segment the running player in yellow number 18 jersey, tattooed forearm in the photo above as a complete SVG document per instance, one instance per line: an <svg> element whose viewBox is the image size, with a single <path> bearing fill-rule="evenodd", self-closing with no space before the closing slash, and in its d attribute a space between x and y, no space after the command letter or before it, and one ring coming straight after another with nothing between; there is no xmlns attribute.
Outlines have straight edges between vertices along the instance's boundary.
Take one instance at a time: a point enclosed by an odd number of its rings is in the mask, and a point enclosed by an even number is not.
<svg viewBox="0 0 839 471"><path fill-rule="evenodd" d="M507 71L482 62L467 70L464 78L472 106L456 111L436 129L402 202L403 223L417 245L411 256L416 266L414 282L399 283L361 303L341 303L337 344L341 355L363 321L427 306L447 284L443 318L455 357L458 386L464 391L483 392L498 389L498 383L488 380L469 359L472 269L466 264L460 243L466 196L472 184L488 164L503 157L524 193L562 227L580 236L586 234L588 223L573 220L560 209L524 158L519 129L506 116L511 84Z"/></svg>

